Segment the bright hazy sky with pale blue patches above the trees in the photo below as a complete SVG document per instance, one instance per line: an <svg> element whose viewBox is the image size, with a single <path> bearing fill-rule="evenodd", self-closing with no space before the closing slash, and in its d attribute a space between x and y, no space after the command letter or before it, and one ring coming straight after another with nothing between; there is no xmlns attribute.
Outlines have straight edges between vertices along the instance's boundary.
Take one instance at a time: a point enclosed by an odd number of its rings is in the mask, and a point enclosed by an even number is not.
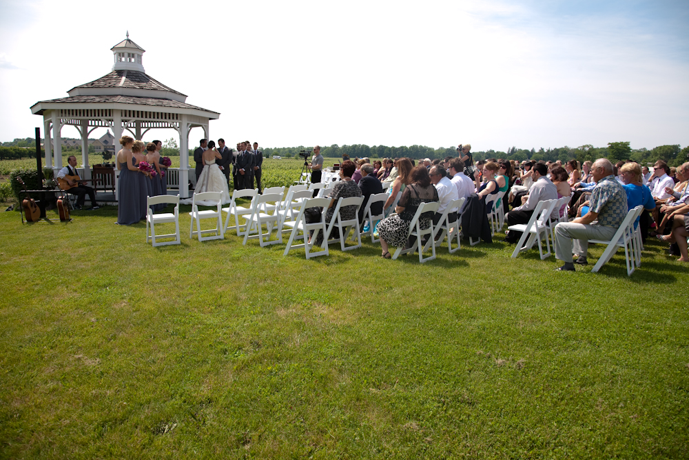
<svg viewBox="0 0 689 460"><path fill-rule="evenodd" d="M0 140L32 135L36 101L109 72L129 30L147 74L220 112L211 138L229 143L689 144L689 1L137 5L127 19L87 1L0 3Z"/></svg>

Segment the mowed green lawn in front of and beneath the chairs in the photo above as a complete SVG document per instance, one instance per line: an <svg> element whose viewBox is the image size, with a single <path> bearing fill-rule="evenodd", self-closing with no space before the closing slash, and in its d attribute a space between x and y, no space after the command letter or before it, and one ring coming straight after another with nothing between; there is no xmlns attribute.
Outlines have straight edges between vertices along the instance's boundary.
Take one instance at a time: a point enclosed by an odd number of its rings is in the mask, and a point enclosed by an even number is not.
<svg viewBox="0 0 689 460"><path fill-rule="evenodd" d="M162 248L116 208L0 214L0 457L689 456L689 276L657 241L632 277L500 242L307 261L188 211Z"/></svg>

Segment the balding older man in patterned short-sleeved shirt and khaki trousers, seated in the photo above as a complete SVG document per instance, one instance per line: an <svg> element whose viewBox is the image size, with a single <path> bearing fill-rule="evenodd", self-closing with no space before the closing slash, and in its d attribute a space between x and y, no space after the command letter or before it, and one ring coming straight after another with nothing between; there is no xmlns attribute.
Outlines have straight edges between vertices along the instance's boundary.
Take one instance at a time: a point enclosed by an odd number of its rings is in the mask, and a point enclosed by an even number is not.
<svg viewBox="0 0 689 460"><path fill-rule="evenodd" d="M555 226L556 257L564 261L557 270L575 270L573 248L579 254L577 263L586 265L588 240L610 240L627 215L627 194L615 179L613 163L604 158L597 159L592 172L596 186L591 191L586 215Z"/></svg>

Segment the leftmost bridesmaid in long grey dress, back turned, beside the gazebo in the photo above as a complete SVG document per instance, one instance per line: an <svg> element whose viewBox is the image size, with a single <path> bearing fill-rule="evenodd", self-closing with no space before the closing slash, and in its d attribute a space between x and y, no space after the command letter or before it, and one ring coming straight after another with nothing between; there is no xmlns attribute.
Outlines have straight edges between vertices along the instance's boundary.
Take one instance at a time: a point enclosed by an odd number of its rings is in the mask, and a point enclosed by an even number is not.
<svg viewBox="0 0 689 460"><path fill-rule="evenodd" d="M132 148L134 139L123 136L120 139L122 150L117 152L117 168L120 170L120 177L117 181L119 201L117 203L117 223L120 225L131 225L141 220L141 193L140 179L146 179L145 175L134 166L136 158ZM145 214L145 201L143 206Z"/></svg>

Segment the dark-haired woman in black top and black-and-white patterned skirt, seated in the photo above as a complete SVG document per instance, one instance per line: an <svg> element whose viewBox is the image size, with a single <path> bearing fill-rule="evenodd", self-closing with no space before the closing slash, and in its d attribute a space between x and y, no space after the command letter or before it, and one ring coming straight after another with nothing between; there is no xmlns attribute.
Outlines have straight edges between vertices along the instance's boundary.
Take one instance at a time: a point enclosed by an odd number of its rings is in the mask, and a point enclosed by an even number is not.
<svg viewBox="0 0 689 460"><path fill-rule="evenodd" d="M428 170L424 166L416 166L409 174L409 186L404 188L402 197L395 208L396 214L383 219L378 223L380 235L381 257L390 259L389 245L404 248L407 246L407 234L409 225L421 203L438 201L438 192L431 184ZM419 226L422 229L429 228L433 219L433 212L424 212L419 218Z"/></svg>

